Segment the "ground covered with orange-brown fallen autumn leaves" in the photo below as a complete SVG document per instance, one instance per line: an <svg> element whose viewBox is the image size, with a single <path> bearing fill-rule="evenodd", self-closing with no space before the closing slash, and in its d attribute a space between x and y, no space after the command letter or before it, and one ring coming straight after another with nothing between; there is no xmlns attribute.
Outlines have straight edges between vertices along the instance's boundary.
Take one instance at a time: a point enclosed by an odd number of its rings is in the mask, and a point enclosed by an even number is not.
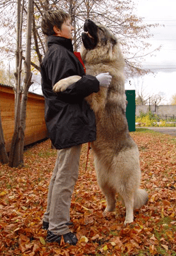
<svg viewBox="0 0 176 256"><path fill-rule="evenodd" d="M23 167L0 165L0 255L176 255L176 138L147 129L131 136L140 150L141 188L148 191L148 204L135 211L134 222L125 227L120 200L116 213L104 218L106 202L91 153L85 170L84 145L70 211L72 231L79 239L76 246L45 243L42 216L56 159L51 142L28 148Z"/></svg>

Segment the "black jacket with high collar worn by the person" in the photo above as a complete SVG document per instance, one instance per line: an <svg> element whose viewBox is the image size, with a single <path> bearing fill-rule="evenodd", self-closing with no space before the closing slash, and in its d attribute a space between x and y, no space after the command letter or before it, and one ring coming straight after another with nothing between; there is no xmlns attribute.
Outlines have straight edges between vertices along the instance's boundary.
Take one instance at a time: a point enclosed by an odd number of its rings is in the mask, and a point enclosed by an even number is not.
<svg viewBox="0 0 176 256"><path fill-rule="evenodd" d="M57 149L94 141L95 115L84 97L99 91L99 81L94 76L84 74L83 65L74 56L70 39L49 36L48 47L41 64L41 74L49 137ZM56 82L74 75L82 78L65 92L52 92Z"/></svg>

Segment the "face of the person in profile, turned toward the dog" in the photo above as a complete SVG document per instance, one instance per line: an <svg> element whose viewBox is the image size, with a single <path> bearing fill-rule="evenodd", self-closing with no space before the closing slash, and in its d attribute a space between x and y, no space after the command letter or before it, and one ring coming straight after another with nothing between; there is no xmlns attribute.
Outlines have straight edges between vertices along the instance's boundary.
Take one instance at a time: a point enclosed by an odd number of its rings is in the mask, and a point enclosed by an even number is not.
<svg viewBox="0 0 176 256"><path fill-rule="evenodd" d="M68 39L73 39L72 32L74 31L74 27L71 24L71 20L68 19L61 25L61 29L56 29L56 36L65 37Z"/></svg>

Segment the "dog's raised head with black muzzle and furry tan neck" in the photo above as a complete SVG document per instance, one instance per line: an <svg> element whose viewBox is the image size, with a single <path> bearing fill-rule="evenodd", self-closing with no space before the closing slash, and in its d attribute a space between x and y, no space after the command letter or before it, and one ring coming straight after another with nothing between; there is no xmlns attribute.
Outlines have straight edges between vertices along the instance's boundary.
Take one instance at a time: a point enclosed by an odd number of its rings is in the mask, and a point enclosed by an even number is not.
<svg viewBox="0 0 176 256"><path fill-rule="evenodd" d="M122 59L122 54L116 37L108 28L95 24L87 19L82 33L81 56L89 63L105 63Z"/></svg>

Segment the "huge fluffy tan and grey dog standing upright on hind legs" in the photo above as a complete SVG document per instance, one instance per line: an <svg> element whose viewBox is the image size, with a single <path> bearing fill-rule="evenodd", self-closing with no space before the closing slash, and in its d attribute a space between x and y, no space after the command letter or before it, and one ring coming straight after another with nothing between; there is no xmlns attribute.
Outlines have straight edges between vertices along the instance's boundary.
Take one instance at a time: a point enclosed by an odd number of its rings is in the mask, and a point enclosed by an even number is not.
<svg viewBox="0 0 176 256"><path fill-rule="evenodd" d="M115 211L116 193L126 209L124 225L134 221L134 209L147 203L145 189L140 189L140 160L136 143L132 140L125 116L124 57L116 37L104 26L88 19L82 33L81 57L86 74L109 72L109 88L100 87L85 99L93 109L97 125L97 139L91 143L97 182L106 197L106 212ZM53 87L64 91L81 77L70 76Z"/></svg>

